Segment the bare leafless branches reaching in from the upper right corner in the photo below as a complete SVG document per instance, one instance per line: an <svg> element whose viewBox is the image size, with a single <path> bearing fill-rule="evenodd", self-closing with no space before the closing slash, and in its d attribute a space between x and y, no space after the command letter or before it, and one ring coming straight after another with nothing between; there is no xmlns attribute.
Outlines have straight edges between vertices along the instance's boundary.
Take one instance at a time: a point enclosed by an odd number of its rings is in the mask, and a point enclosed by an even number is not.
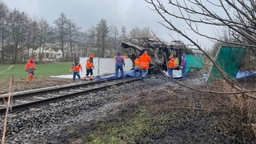
<svg viewBox="0 0 256 144"><path fill-rule="evenodd" d="M192 30L195 34L198 34L205 38L214 39L217 41L220 41L220 38L214 38L213 36L207 36L204 33L200 33L197 24L202 23L206 26L210 25L210 26L228 27L230 32L233 33L234 38L238 38L237 42L230 41L230 43L239 44L240 46L246 45L252 48L255 46L242 43L242 39L240 38L246 38L250 42L256 42L256 38L253 35L254 33L251 33L251 31L253 30L246 30L245 27L248 26L247 23L235 22L236 19L233 18L234 15L230 14L230 11L237 12L238 14L240 14L241 19L247 18L250 22L252 18L249 18L249 16L246 15L245 13L246 11L237 10L238 6L235 6L234 2L227 1L227 0L225 1L226 2L225 4L220 0L218 5L215 4L216 2L211 2L213 4L212 6L218 6L218 9L222 9L226 14L227 18L223 17L225 15L221 16L220 14L215 13L214 11L211 11L208 7L206 7L205 5L206 3L198 0L188 0L188 1L184 0L183 4L180 3L180 1L173 2L170 0L168 4L170 4L170 6L173 6L176 11L178 10L179 13L174 13L166 10L166 7L164 6L164 3L161 0L156 0L156 1L146 0L146 2L152 5L154 7L153 10L155 10L157 14L162 18L162 21L158 23L164 26L167 30L172 30L174 32L177 32L178 34L181 34L183 38L186 38L186 40L191 42L194 46L198 48L198 50L202 51L202 53L206 55L206 58L208 58L210 62L214 64L217 70L222 74L222 77L226 80L226 82L230 84L230 86L233 86L238 91L245 91L240 86L238 86L237 82L230 80L227 77L226 73L219 66L216 65L216 63L212 58L210 58L210 55L208 55L206 51L203 50L201 46L199 46L198 42L193 38L191 38L189 35L187 35L186 30L180 30L179 26L175 26L174 23L171 20L169 20L170 19L169 17L177 18L178 20L185 22L186 26L190 28L188 30ZM207 2L209 3L209 1ZM240 2L240 4L242 7L245 7L243 2ZM194 7L192 8L192 6ZM174 9L171 9L170 7L168 7L168 9L174 10ZM249 7L246 7L246 9L249 10ZM195 24L193 24L193 22L195 22ZM254 22L250 22L250 23L254 23ZM251 26L248 26L248 27L251 27ZM235 34L239 34L240 38L235 37ZM226 41L222 41L222 42L226 43ZM246 95L250 95L250 94L246 93Z"/></svg>

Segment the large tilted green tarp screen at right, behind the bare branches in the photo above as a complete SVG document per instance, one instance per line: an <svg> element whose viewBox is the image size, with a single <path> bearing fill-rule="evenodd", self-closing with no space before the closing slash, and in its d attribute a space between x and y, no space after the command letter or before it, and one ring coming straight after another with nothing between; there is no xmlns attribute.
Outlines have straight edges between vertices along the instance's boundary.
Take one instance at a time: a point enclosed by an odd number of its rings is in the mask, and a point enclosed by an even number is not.
<svg viewBox="0 0 256 144"><path fill-rule="evenodd" d="M246 49L241 47L221 46L216 54L216 64L226 72L228 77L235 78L246 54ZM206 79L207 82L222 78L215 66L212 66Z"/></svg>

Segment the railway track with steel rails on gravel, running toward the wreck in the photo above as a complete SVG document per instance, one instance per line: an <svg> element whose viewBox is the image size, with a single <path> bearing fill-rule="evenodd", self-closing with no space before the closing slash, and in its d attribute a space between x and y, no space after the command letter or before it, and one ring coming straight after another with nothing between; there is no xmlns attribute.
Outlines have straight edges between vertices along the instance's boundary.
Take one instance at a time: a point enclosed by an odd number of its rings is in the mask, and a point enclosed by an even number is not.
<svg viewBox="0 0 256 144"><path fill-rule="evenodd" d="M135 82L140 78L110 78L92 82L78 82L65 86L52 86L37 90L28 90L10 94L10 113L26 110L34 106L41 106L52 102L62 101L66 98L82 94L90 94L98 90L106 90L110 86L118 86L127 82ZM9 95L2 94L0 103L0 114L6 113L6 102Z"/></svg>

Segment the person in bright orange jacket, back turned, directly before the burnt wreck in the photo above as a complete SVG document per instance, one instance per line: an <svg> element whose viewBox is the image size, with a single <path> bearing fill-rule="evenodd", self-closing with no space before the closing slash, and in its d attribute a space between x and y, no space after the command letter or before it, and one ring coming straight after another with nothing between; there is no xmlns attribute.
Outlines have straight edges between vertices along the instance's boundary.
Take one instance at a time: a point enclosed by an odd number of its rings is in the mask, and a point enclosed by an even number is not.
<svg viewBox="0 0 256 144"><path fill-rule="evenodd" d="M146 74L148 74L148 69L150 68L150 62L151 62L151 58L149 56L149 54L147 54L147 51L144 51L144 53L140 56L140 58L138 59L141 69L142 69L142 80L144 80L144 78L146 77Z"/></svg>

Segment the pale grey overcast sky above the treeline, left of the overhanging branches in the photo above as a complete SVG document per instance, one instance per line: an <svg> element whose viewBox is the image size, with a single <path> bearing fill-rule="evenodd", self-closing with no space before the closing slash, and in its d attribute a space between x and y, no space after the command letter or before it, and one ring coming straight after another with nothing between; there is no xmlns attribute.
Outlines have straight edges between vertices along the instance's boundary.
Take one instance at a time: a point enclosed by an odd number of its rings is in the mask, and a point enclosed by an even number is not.
<svg viewBox="0 0 256 144"><path fill-rule="evenodd" d="M9 7L10 10L24 11L30 18L39 20L46 19L50 25L54 25L54 20L58 19L63 12L66 17L87 30L91 26L96 26L101 18L110 25L114 25L121 31L122 26L126 26L129 32L135 26L139 28L150 27L159 38L170 42L178 38L177 34L166 30L158 22L161 18L154 11L149 9L149 5L144 0L0 0ZM177 39L182 40L182 39ZM204 45L204 43L202 43Z"/></svg>

